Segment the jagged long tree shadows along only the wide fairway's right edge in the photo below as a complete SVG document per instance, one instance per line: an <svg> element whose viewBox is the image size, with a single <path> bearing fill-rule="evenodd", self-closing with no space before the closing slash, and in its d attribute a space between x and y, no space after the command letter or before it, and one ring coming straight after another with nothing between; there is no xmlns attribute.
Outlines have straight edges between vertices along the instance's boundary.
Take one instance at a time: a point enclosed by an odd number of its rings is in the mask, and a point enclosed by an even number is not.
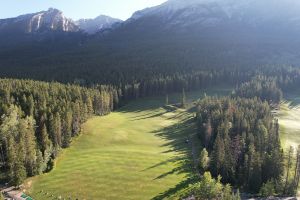
<svg viewBox="0 0 300 200"><path fill-rule="evenodd" d="M176 124L162 128L161 130L154 131L153 133L166 141L162 147L169 147L170 149L168 151L163 151L162 153L177 152L178 156L160 162L147 169L152 169L168 163L176 163L176 168L159 175L154 180L163 179L171 174L185 174L186 178L174 187L153 197L153 200L170 198L178 192L187 189L190 184L199 180L197 169L194 167L191 141L189 141L191 138L190 136L197 133L194 118L187 112L181 112L175 117L176 119L182 120L179 120Z"/></svg>

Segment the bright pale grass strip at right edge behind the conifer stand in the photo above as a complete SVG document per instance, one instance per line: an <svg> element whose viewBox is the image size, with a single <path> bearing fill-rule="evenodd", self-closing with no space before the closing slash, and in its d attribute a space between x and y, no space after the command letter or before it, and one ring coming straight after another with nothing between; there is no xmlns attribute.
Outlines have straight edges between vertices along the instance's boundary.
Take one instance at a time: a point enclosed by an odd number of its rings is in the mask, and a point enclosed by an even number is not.
<svg viewBox="0 0 300 200"><path fill-rule="evenodd" d="M277 115L284 149L300 145L300 93L287 94Z"/></svg>

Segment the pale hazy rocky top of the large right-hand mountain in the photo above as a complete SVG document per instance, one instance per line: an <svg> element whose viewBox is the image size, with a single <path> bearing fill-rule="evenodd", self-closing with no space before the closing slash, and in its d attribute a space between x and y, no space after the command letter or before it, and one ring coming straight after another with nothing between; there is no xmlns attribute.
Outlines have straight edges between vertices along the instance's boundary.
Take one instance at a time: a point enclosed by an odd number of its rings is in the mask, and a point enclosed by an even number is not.
<svg viewBox="0 0 300 200"><path fill-rule="evenodd" d="M297 0L169 0L136 12L131 21L159 16L171 26L217 27L227 25L294 26L300 30L300 2ZM296 27L295 27L296 26Z"/></svg>

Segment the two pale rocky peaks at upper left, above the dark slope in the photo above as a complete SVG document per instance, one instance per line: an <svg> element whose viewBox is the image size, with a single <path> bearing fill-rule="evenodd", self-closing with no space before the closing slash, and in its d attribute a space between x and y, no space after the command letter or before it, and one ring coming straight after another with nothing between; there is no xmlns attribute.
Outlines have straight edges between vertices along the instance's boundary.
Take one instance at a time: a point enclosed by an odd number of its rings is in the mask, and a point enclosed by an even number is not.
<svg viewBox="0 0 300 200"><path fill-rule="evenodd" d="M0 20L0 33L45 33L47 31L78 32L89 34L111 28L115 23L122 22L108 16L100 15L95 19L73 21L63 15L63 12L49 8L33 14L21 15L15 18Z"/></svg>

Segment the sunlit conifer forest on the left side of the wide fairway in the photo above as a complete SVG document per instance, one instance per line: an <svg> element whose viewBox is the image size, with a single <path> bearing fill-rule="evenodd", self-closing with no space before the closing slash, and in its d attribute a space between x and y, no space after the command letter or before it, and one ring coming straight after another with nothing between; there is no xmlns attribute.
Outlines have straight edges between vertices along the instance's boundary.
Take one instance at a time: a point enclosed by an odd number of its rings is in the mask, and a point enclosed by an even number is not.
<svg viewBox="0 0 300 200"><path fill-rule="evenodd" d="M93 89L29 80L0 80L2 179L20 184L51 170L59 149L69 147L92 115L118 106L109 86Z"/></svg>

